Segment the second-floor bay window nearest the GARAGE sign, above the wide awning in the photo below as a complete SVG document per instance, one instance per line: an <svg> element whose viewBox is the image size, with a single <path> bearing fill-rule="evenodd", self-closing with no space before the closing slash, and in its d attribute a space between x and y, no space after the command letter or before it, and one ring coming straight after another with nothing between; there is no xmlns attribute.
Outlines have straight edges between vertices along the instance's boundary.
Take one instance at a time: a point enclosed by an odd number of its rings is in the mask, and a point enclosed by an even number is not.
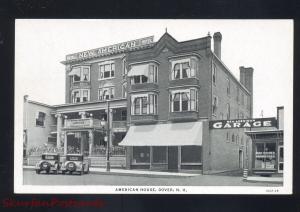
<svg viewBox="0 0 300 212"><path fill-rule="evenodd" d="M197 111L198 91L194 88L174 90L170 94L171 112Z"/></svg>

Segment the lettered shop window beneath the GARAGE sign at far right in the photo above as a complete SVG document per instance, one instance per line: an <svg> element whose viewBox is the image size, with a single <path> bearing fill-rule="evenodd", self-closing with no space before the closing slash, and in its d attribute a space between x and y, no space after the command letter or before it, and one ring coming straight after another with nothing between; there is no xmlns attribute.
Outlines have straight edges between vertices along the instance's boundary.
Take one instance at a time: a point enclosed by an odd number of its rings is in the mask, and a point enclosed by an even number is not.
<svg viewBox="0 0 300 212"><path fill-rule="evenodd" d="M256 143L255 168L275 169L276 143Z"/></svg>

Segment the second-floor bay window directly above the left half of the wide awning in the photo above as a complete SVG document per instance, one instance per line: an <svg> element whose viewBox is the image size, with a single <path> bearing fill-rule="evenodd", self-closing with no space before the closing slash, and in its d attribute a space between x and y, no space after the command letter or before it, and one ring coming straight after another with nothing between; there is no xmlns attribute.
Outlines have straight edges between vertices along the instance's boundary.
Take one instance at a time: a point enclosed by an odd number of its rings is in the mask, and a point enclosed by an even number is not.
<svg viewBox="0 0 300 212"><path fill-rule="evenodd" d="M131 114L157 114L157 95L138 94L131 96Z"/></svg>

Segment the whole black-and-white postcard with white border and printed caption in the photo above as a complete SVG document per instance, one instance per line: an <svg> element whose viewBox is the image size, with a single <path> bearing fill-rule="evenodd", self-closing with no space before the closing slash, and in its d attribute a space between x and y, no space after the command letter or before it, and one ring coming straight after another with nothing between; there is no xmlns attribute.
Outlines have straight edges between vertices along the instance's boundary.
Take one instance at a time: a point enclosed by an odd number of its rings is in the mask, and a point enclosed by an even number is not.
<svg viewBox="0 0 300 212"><path fill-rule="evenodd" d="M15 193L292 193L292 20L16 19L14 101Z"/></svg>

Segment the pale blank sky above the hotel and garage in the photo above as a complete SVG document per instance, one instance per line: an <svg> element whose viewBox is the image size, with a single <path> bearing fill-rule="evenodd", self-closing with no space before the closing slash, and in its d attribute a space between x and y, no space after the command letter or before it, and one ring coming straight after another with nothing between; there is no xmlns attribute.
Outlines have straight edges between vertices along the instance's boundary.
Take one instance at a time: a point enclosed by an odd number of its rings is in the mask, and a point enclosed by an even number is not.
<svg viewBox="0 0 300 212"><path fill-rule="evenodd" d="M239 79L239 67L254 69L253 117L292 111L293 22L291 20L16 20L15 102L65 103L67 54L147 36L166 29L177 41L222 33L221 57ZM212 39L213 40L213 39ZM212 43L213 48L213 43Z"/></svg>

